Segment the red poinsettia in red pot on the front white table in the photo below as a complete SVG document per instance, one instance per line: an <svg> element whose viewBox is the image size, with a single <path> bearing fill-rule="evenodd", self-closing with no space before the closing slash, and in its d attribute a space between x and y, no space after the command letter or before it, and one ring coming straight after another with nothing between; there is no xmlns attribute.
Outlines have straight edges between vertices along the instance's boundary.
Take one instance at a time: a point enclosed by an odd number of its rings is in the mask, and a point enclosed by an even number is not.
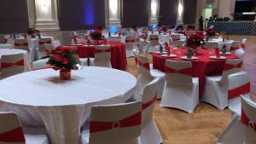
<svg viewBox="0 0 256 144"><path fill-rule="evenodd" d="M46 56L49 58L46 67L53 68L55 71L60 70L61 80L71 78L71 70L78 70L79 55L75 54L73 47L56 47L52 50L46 50Z"/></svg>

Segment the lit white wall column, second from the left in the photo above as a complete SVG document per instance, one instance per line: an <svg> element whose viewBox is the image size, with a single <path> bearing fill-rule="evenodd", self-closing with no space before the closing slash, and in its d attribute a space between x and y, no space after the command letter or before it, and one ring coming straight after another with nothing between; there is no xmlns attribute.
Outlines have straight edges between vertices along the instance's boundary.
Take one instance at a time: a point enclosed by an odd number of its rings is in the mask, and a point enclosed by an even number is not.
<svg viewBox="0 0 256 144"><path fill-rule="evenodd" d="M121 27L121 0L108 0L108 27Z"/></svg>

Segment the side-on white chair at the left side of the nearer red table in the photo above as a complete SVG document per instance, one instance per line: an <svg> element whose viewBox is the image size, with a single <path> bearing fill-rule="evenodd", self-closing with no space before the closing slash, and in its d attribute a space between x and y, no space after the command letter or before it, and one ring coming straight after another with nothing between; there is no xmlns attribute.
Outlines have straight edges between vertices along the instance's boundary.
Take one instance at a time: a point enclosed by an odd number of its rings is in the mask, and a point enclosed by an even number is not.
<svg viewBox="0 0 256 144"><path fill-rule="evenodd" d="M137 55L138 59L138 75L137 75L137 95L143 95L144 86L149 84L154 78L160 78L158 86L157 98L162 97L162 92L165 84L165 73L160 70L153 69L149 64L148 57L145 55Z"/></svg>

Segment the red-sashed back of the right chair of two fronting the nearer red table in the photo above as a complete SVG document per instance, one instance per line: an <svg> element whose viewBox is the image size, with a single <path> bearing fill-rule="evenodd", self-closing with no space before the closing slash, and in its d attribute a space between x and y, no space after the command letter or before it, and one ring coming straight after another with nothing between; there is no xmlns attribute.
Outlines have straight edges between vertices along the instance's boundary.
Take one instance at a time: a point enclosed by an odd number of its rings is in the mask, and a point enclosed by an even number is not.
<svg viewBox="0 0 256 144"><path fill-rule="evenodd" d="M224 72L222 73L221 83L228 84L228 77L230 74L241 72L243 59L226 60L224 64Z"/></svg>

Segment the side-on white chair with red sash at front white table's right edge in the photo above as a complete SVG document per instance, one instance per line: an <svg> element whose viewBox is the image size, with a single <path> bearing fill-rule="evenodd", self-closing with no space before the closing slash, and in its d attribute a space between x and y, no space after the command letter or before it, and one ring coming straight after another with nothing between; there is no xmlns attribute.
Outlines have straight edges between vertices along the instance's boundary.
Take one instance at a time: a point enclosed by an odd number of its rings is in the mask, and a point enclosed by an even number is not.
<svg viewBox="0 0 256 144"><path fill-rule="evenodd" d="M153 119L154 104L157 99L157 89L159 78L155 78L152 82L147 84L143 90L142 96L142 134L140 136L142 144L160 144L163 138L157 129Z"/></svg>

